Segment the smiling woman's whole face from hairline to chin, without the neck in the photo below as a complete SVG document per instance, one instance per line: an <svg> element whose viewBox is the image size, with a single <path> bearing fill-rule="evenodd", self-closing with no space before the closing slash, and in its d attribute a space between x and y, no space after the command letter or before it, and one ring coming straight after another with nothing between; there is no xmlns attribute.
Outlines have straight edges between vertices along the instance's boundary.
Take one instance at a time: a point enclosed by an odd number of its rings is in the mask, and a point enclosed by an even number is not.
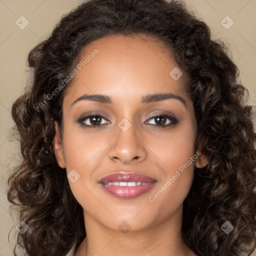
<svg viewBox="0 0 256 256"><path fill-rule="evenodd" d="M180 219L198 161L184 70L145 35L111 35L83 52L54 150L85 223L135 231Z"/></svg>

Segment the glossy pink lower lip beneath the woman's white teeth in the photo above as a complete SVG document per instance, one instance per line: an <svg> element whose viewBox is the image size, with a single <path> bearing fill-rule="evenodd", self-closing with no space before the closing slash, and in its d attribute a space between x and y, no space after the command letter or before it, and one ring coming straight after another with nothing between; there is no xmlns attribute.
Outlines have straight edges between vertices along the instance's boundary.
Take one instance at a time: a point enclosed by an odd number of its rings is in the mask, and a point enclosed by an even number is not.
<svg viewBox="0 0 256 256"><path fill-rule="evenodd" d="M109 194L122 199L131 199L149 191L155 182L137 186L114 186L100 183L100 186Z"/></svg>

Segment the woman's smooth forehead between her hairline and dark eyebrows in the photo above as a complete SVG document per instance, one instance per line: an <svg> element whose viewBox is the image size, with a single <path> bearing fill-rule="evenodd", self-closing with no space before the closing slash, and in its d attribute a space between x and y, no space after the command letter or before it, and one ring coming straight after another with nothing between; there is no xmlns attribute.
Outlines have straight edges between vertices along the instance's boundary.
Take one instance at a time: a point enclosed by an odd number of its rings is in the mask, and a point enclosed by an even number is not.
<svg viewBox="0 0 256 256"><path fill-rule="evenodd" d="M75 68L77 74L66 92L70 100L82 93L118 98L138 95L139 99L145 92L186 94L188 76L171 50L145 34L115 34L95 40L82 49ZM178 80L170 75L175 68L182 72Z"/></svg>

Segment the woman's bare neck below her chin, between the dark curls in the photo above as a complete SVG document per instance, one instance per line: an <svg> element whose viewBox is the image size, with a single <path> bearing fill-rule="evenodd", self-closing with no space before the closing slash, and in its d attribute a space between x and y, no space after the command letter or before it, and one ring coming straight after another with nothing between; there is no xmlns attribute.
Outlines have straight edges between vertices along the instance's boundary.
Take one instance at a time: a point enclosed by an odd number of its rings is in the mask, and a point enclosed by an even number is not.
<svg viewBox="0 0 256 256"><path fill-rule="evenodd" d="M161 223L144 230L123 233L109 229L92 216L84 214L86 237L75 256L196 256L182 239L181 217L182 205Z"/></svg>

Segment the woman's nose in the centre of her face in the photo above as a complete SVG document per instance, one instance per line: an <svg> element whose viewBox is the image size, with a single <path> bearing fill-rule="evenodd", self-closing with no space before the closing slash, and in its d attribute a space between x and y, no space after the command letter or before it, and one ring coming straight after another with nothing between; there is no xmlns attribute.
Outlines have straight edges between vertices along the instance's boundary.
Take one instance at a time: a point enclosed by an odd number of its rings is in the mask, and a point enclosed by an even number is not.
<svg viewBox="0 0 256 256"><path fill-rule="evenodd" d="M135 125L131 125L126 131L117 126L117 134L111 140L109 158L122 164L143 161L146 158L146 146L139 137Z"/></svg>

